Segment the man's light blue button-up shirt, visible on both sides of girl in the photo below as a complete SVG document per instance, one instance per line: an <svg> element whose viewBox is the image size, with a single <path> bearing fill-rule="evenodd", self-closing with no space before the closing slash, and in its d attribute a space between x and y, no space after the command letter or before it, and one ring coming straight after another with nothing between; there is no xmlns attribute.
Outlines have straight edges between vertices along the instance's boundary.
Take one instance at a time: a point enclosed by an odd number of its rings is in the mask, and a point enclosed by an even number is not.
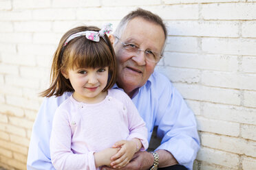
<svg viewBox="0 0 256 170"><path fill-rule="evenodd" d="M52 119L56 108L70 95L65 93L61 97L43 100L30 139L28 170L54 169L49 149ZM180 165L193 169L193 160L200 149L195 116L167 77L155 71L147 83L138 89L132 101L146 122L148 141L153 127L158 127L157 136L162 141L156 150L170 151Z"/></svg>

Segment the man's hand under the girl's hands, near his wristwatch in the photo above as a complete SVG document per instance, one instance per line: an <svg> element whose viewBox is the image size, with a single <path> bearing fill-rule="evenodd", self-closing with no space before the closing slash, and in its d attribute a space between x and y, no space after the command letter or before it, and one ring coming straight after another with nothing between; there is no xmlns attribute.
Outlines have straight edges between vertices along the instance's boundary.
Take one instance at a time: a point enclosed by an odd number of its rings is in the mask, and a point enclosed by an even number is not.
<svg viewBox="0 0 256 170"><path fill-rule="evenodd" d="M153 165L153 155L147 151L138 151L134 154L128 165L122 170L147 170ZM110 167L103 167L102 170L111 170Z"/></svg>

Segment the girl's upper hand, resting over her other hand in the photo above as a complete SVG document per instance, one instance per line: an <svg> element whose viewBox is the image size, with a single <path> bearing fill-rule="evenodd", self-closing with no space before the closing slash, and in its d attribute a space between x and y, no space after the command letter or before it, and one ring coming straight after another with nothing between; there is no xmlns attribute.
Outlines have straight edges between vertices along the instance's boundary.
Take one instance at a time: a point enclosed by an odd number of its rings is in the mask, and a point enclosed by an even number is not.
<svg viewBox="0 0 256 170"><path fill-rule="evenodd" d="M131 158L134 156L136 151L140 149L142 146L140 140L138 138L134 138L131 141L118 141L113 145L114 148L121 147L117 154L111 157L111 160L114 160L111 162L111 167L113 168L122 168L125 167Z"/></svg>

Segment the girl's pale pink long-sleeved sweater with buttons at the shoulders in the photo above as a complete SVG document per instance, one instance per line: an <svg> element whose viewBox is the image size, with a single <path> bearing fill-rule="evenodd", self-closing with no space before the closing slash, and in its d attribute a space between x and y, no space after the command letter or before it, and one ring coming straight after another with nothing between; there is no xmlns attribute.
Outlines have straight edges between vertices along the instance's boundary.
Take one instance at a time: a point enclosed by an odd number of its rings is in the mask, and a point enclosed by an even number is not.
<svg viewBox="0 0 256 170"><path fill-rule="evenodd" d="M98 104L72 96L58 107L52 123L50 154L55 169L96 169L94 152L120 140L140 138L147 149L147 128L136 106L121 90L108 90Z"/></svg>

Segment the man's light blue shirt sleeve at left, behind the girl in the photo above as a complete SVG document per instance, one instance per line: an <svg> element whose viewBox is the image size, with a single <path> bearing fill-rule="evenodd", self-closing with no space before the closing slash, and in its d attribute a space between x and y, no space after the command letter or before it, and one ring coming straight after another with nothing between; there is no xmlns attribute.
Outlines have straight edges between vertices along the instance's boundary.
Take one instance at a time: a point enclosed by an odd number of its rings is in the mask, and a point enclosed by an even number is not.
<svg viewBox="0 0 256 170"><path fill-rule="evenodd" d="M52 119L56 108L67 98L50 97L43 99L41 108L37 113L30 137L28 149L27 169L54 169L50 158L50 134L52 130Z"/></svg>

